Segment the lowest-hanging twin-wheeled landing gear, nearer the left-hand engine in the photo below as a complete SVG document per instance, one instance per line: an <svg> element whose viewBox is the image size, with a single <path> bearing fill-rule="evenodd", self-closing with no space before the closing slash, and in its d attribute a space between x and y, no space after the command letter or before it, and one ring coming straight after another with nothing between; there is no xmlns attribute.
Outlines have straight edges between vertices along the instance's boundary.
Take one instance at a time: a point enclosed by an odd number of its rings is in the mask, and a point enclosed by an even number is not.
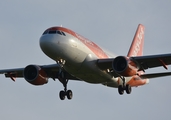
<svg viewBox="0 0 171 120"><path fill-rule="evenodd" d="M67 97L69 100L72 99L73 94L71 90L67 90L67 83L68 83L68 79L65 78L64 72L61 72L59 77L58 77L59 81L63 84L64 86L64 90L61 90L59 92L59 97L61 100L64 100L65 97Z"/></svg>

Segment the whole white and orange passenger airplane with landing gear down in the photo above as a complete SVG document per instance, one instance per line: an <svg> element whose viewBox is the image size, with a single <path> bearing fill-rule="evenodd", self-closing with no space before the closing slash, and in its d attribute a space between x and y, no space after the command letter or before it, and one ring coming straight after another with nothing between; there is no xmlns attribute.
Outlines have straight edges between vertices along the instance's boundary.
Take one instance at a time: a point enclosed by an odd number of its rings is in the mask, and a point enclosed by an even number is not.
<svg viewBox="0 0 171 120"><path fill-rule="evenodd" d="M171 54L143 56L145 27L139 24L127 56L111 55L106 50L80 34L61 26L46 29L40 37L41 50L56 64L28 65L23 68L0 70L11 78L24 78L32 85L44 85L48 79L58 79L64 87L59 97L71 100L73 93L67 89L69 80L118 89L120 95L130 94L132 87L149 83L150 78L171 75L171 72L145 74L145 70L171 64Z"/></svg>

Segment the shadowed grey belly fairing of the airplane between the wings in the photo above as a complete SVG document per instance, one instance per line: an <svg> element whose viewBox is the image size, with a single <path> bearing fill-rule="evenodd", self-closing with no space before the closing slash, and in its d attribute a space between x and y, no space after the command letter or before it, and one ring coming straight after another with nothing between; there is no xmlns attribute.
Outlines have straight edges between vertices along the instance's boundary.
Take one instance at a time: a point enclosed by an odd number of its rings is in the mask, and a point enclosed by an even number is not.
<svg viewBox="0 0 171 120"><path fill-rule="evenodd" d="M73 71L70 72L73 73ZM106 71L100 70L98 66L96 66L96 61L92 54L87 55L79 71L73 73L73 75L88 83L103 84L110 87L118 86L117 78L114 78L112 75L108 74Z"/></svg>

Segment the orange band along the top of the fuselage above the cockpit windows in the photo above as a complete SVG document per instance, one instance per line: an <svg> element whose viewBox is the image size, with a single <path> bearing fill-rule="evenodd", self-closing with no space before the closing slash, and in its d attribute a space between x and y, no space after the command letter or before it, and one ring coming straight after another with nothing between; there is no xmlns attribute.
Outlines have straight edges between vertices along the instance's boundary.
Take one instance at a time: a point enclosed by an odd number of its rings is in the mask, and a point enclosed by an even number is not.
<svg viewBox="0 0 171 120"><path fill-rule="evenodd" d="M75 33L72 30L69 30L67 28L64 27L51 27L47 30L59 30L59 31L63 31L66 32L74 37L76 37L78 40L80 40L84 45L86 45L98 58L108 58L108 56L106 55L106 53L98 46L96 45L94 42L84 38L83 36Z"/></svg>

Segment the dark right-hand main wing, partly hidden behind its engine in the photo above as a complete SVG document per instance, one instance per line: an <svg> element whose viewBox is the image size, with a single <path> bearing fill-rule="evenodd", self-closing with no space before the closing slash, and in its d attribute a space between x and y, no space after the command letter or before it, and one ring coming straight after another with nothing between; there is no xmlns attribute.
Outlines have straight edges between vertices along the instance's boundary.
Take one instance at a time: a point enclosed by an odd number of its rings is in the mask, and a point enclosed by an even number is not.
<svg viewBox="0 0 171 120"><path fill-rule="evenodd" d="M98 59L97 66L102 70L113 69L112 63L114 60L115 58ZM128 60L133 61L134 63L136 63L137 66L139 66L138 71L145 71L146 69L160 66L163 66L165 69L167 69L167 65L171 64L171 54L136 56L129 57Z"/></svg>

